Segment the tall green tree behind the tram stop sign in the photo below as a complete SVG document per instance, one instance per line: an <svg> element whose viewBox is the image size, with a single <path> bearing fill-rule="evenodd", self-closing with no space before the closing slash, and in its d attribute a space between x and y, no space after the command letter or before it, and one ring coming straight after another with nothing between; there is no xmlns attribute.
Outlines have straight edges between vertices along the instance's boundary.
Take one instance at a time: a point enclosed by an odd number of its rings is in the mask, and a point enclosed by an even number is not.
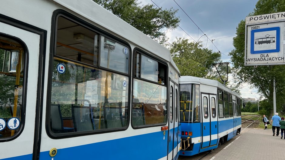
<svg viewBox="0 0 285 160"><path fill-rule="evenodd" d="M259 0L256 4L254 12L249 15L261 15L275 12L285 11L285 1L280 0ZM282 108L285 104L285 66L272 65L272 66L244 66L244 31L245 21L240 21L236 28L236 37L233 38L233 46L235 47L230 55L233 63L232 72L235 73L234 77L238 83L247 82L252 84L253 87L258 88L258 92L263 95L270 105L270 112L273 109L273 78L276 79L276 96L277 96L277 112L284 111ZM268 111L267 111L268 112Z"/></svg>

